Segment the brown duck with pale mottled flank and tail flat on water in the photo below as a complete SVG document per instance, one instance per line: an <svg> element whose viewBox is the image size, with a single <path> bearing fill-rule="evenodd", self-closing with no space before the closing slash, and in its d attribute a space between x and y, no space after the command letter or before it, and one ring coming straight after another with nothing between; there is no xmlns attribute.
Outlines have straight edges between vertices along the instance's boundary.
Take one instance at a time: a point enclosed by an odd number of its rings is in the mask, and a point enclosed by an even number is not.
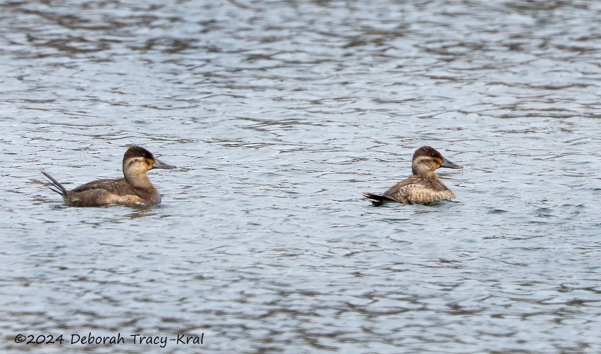
<svg viewBox="0 0 601 354"><path fill-rule="evenodd" d="M413 153L412 175L381 195L373 193L363 195L373 203L373 206L380 206L383 203L427 205L436 201L454 199L455 194L434 173L440 167L463 168L442 157L442 154L431 146L420 147Z"/></svg>

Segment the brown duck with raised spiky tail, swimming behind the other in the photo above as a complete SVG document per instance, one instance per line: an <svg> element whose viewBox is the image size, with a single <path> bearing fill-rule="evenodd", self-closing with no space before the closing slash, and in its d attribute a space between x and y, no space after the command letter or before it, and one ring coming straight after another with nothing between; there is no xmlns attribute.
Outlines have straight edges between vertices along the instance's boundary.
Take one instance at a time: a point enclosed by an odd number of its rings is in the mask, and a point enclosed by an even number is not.
<svg viewBox="0 0 601 354"><path fill-rule="evenodd" d="M46 171L42 169L41 173L52 183L48 187L62 195L68 206L154 206L160 204L160 194L146 175L153 168L171 169L175 166L160 162L145 148L132 146L123 155L124 177L121 179L95 180L67 191Z"/></svg>

